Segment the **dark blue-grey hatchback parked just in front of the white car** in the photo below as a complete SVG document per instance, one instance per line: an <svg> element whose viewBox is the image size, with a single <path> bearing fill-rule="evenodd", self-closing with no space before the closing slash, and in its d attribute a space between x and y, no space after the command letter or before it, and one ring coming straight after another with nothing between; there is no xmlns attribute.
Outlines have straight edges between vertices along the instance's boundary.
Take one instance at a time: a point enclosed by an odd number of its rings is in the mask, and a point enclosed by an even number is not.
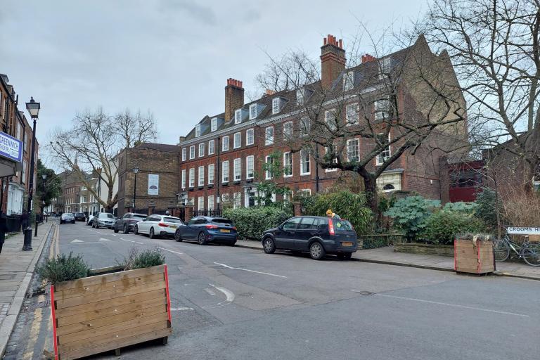
<svg viewBox="0 0 540 360"><path fill-rule="evenodd" d="M195 240L200 245L226 243L234 246L237 238L233 221L222 217L194 217L174 232L174 240Z"/></svg>

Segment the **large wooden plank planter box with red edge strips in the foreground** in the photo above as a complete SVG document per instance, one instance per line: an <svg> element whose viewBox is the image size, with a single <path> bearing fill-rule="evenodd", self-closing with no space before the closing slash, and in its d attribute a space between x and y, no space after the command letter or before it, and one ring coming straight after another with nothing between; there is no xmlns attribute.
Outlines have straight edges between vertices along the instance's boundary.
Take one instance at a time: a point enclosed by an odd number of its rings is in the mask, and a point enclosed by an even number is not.
<svg viewBox="0 0 540 360"><path fill-rule="evenodd" d="M51 285L55 359L79 359L172 333L167 265Z"/></svg>

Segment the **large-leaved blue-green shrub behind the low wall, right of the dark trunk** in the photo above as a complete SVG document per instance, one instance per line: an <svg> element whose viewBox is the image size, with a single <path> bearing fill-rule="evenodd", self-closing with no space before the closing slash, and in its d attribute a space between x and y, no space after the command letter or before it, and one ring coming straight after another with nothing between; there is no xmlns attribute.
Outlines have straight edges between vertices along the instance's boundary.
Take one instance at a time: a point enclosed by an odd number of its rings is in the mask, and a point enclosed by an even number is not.
<svg viewBox="0 0 540 360"><path fill-rule="evenodd" d="M407 196L398 199L385 215L394 219L394 226L403 230L409 240L415 240L425 228L425 221L433 210L439 208L439 200L425 199L422 196Z"/></svg>

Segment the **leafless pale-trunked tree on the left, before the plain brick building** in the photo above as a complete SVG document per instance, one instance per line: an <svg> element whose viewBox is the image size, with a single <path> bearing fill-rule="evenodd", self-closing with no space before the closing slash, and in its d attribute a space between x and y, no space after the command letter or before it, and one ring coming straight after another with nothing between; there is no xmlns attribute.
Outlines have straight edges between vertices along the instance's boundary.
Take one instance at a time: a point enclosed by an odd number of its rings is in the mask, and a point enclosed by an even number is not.
<svg viewBox="0 0 540 360"><path fill-rule="evenodd" d="M117 194L113 193L118 174L115 156L125 147L155 138L152 115L143 116L140 112L131 115L126 110L110 116L99 108L75 115L70 129L56 130L51 136L49 150L53 163L74 171L98 202L110 210L117 203ZM106 200L102 200L91 186L86 176L89 173L101 177L108 187Z"/></svg>

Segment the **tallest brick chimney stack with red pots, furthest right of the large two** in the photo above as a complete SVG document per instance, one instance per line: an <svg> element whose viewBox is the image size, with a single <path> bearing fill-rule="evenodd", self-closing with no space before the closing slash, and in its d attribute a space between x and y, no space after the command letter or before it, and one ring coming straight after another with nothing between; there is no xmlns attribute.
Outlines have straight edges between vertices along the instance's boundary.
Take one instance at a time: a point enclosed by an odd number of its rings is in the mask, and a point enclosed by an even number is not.
<svg viewBox="0 0 540 360"><path fill-rule="evenodd" d="M328 34L321 46L321 84L323 89L330 89L332 83L345 70L345 50L342 39Z"/></svg>

